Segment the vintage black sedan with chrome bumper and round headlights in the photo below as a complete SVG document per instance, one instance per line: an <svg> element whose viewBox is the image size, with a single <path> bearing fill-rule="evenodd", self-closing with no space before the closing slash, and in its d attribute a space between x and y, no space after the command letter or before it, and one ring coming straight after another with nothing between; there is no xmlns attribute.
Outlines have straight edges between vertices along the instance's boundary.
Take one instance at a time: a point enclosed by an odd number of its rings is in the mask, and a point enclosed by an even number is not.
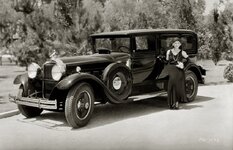
<svg viewBox="0 0 233 150"><path fill-rule="evenodd" d="M43 66L32 63L28 73L15 78L17 96L10 96L26 117L45 110L65 111L72 127L85 126L97 103L126 103L140 95L166 93L164 57L174 38L182 40L190 59L185 64L189 102L204 83L205 70L194 63L197 34L183 29L140 29L90 36L92 54L53 58Z"/></svg>

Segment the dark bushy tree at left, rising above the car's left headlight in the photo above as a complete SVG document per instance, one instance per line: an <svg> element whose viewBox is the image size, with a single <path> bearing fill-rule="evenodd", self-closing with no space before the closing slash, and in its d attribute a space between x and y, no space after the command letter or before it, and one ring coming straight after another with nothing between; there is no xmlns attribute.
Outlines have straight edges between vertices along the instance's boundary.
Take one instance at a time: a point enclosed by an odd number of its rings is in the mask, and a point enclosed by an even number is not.
<svg viewBox="0 0 233 150"><path fill-rule="evenodd" d="M50 18L44 16L42 4L37 0L14 0L13 8L21 12L24 16L21 18L21 26L25 37L18 38L12 46L17 54L19 63L27 66L31 62L39 64L44 63L49 56L47 40L50 38L51 28L53 26ZM19 34L19 31L17 31ZM22 32L21 34L22 35ZM20 41L20 42L19 42Z"/></svg>

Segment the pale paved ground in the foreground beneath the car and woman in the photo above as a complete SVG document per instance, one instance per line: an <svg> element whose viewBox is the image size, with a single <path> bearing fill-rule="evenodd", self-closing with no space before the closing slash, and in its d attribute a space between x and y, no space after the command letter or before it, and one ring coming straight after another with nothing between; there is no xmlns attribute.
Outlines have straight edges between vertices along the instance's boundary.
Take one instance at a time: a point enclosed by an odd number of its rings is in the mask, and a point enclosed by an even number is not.
<svg viewBox="0 0 233 150"><path fill-rule="evenodd" d="M166 96L98 105L87 126L65 113L0 119L1 150L232 150L233 84L200 86L192 103L170 110Z"/></svg>

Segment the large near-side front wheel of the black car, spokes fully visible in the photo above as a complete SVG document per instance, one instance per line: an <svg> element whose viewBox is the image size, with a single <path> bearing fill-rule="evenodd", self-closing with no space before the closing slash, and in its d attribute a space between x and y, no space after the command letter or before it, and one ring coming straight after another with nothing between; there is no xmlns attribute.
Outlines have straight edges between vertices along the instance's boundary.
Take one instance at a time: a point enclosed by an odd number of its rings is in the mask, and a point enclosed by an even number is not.
<svg viewBox="0 0 233 150"><path fill-rule="evenodd" d="M80 83L70 89L65 104L65 116L73 127L85 126L91 119L94 110L94 93L88 83Z"/></svg>

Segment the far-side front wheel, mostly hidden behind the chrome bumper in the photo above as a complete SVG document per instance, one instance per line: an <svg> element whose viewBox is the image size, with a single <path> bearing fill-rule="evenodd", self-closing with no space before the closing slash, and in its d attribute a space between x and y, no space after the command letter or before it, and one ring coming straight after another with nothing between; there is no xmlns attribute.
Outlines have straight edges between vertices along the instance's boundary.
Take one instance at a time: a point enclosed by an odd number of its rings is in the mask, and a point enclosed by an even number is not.
<svg viewBox="0 0 233 150"><path fill-rule="evenodd" d="M18 91L18 98L20 98L22 96L26 96L26 94L24 93L23 87L20 86L19 91ZM18 109L19 109L20 113L27 118L39 116L41 114L41 112L43 111L43 109L25 106L25 105L20 105L20 104L18 104Z"/></svg>

